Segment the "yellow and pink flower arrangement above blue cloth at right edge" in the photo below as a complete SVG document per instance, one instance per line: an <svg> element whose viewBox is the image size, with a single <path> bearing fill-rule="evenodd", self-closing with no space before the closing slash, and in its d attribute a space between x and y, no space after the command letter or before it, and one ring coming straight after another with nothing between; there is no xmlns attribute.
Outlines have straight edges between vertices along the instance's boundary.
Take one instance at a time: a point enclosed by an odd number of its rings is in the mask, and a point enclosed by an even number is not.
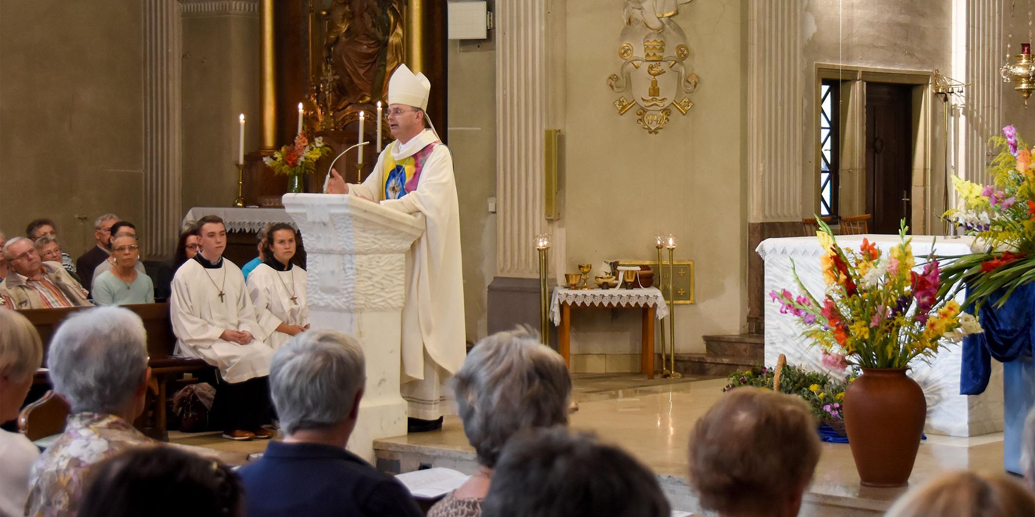
<svg viewBox="0 0 1035 517"><path fill-rule="evenodd" d="M980 185L958 177L952 183L959 193L962 208L943 216L987 251L959 256L942 271L939 299L952 298L967 287L965 306L976 308L994 293L1005 290L996 305L1001 307L1014 290L1035 280L1035 171L1032 149L1013 126L1003 128L1002 136L993 136L989 145L999 150L988 174L992 184Z"/></svg>

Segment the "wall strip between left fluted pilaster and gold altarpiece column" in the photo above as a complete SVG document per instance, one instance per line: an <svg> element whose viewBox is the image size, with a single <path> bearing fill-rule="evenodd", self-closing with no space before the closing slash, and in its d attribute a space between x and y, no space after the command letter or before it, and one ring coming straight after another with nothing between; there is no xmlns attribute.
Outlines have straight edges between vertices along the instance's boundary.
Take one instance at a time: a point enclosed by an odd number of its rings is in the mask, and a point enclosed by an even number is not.
<svg viewBox="0 0 1035 517"><path fill-rule="evenodd" d="M183 213L237 196L238 114L244 152L260 146L259 16L183 17Z"/></svg>

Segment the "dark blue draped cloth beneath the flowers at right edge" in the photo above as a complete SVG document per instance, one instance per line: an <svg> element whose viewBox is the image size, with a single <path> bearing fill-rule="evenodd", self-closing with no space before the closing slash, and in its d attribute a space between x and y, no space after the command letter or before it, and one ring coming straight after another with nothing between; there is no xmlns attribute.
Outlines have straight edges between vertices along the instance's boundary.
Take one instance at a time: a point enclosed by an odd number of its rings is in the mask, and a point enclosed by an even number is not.
<svg viewBox="0 0 1035 517"><path fill-rule="evenodd" d="M997 292L981 306L979 321L983 333L964 338L963 365L959 369L959 393L978 395L988 387L992 359L1006 363L1032 357L1035 345L1035 282L1017 287L1002 308L994 301L1004 294ZM968 307L973 310L973 307Z"/></svg>

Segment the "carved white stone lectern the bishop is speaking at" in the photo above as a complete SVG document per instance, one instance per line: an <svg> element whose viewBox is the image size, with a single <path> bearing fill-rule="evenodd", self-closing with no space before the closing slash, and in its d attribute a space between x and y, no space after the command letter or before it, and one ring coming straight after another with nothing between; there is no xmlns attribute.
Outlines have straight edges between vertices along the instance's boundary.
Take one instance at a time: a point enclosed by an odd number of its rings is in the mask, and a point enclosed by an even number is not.
<svg viewBox="0 0 1035 517"><path fill-rule="evenodd" d="M374 460L377 438L406 434L400 396L406 252L424 220L350 195L288 193L284 207L305 236L305 296L313 329L359 338L366 390L348 449Z"/></svg>

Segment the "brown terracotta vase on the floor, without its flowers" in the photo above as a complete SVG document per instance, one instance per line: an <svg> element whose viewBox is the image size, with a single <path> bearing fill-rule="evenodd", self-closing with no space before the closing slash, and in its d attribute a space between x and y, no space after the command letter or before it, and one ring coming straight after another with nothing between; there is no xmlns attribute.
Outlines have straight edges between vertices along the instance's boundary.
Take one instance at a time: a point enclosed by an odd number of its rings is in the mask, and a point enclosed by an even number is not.
<svg viewBox="0 0 1035 517"><path fill-rule="evenodd" d="M926 416L923 390L905 369L862 369L845 391L845 430L861 484L907 484Z"/></svg>

